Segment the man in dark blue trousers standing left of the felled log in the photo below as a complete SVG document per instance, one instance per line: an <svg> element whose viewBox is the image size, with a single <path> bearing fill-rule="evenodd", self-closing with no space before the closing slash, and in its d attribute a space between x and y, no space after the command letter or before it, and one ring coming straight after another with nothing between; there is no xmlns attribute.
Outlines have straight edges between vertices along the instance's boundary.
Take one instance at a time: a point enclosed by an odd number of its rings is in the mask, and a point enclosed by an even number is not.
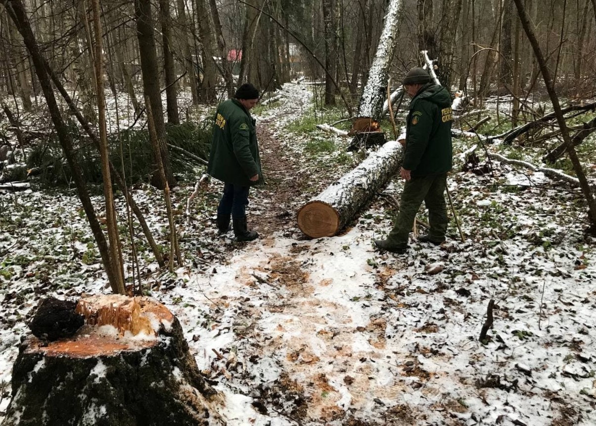
<svg viewBox="0 0 596 426"><path fill-rule="evenodd" d="M252 241L259 236L246 223L249 189L263 180L255 121L250 115L258 100L259 91L245 83L238 88L234 99L219 104L207 165L207 173L224 182L224 195L218 206L218 229L226 233L231 217L238 241Z"/></svg>

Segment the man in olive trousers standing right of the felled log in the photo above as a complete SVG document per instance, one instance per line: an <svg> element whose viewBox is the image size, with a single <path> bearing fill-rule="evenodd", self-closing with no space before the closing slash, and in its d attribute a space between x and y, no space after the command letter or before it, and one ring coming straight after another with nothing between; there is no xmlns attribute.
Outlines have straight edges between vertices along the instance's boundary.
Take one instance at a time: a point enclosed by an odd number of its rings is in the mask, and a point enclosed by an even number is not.
<svg viewBox="0 0 596 426"><path fill-rule="evenodd" d="M429 209L429 233L420 242L439 245L447 232L445 187L452 166L451 95L431 82L422 68L409 70L403 87L412 98L406 123L406 145L401 177L405 180L399 215L385 240L375 240L377 248L405 253L414 219L424 201Z"/></svg>

